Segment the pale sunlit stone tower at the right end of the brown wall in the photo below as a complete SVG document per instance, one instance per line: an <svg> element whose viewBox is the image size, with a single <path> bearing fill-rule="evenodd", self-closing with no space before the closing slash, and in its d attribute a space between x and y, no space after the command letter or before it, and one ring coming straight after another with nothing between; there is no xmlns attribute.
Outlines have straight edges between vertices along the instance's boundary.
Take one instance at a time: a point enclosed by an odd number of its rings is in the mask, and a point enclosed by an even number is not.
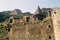
<svg viewBox="0 0 60 40"><path fill-rule="evenodd" d="M55 40L60 40L60 8L53 9L52 19L53 19Z"/></svg>

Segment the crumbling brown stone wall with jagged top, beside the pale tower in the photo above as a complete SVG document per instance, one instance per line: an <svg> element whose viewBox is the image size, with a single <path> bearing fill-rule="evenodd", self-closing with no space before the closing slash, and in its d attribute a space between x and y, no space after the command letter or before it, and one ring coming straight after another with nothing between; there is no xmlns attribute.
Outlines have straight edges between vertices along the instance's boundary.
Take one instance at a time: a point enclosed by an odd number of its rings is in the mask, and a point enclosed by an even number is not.
<svg viewBox="0 0 60 40"><path fill-rule="evenodd" d="M14 19L7 35L9 40L55 40L51 17L42 21L32 19Z"/></svg>

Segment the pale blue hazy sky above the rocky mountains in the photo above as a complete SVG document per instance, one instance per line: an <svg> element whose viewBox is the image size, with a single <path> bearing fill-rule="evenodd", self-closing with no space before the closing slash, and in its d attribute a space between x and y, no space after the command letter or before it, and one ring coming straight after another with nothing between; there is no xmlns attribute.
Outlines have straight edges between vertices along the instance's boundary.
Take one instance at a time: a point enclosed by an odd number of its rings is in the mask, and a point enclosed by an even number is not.
<svg viewBox="0 0 60 40"><path fill-rule="evenodd" d="M38 5L41 8L60 7L60 0L0 0L0 11L20 9L22 12L35 12Z"/></svg>

